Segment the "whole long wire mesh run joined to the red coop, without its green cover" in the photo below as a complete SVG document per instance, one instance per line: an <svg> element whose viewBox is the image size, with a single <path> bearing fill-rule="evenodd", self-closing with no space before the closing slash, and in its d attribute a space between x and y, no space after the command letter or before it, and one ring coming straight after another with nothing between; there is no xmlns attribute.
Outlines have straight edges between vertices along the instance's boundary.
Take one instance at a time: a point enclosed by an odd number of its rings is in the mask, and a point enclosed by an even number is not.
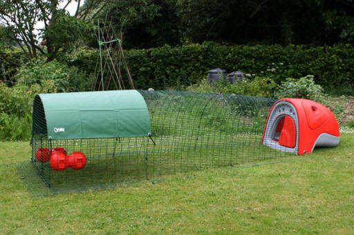
<svg viewBox="0 0 354 235"><path fill-rule="evenodd" d="M32 165L55 192L114 188L140 179L236 166L284 153L261 144L276 100L234 94L139 91L151 121L151 136L48 140L44 110L33 110ZM117 101L119 102L119 101ZM82 170L58 172L35 157L40 147L80 151Z"/></svg>

